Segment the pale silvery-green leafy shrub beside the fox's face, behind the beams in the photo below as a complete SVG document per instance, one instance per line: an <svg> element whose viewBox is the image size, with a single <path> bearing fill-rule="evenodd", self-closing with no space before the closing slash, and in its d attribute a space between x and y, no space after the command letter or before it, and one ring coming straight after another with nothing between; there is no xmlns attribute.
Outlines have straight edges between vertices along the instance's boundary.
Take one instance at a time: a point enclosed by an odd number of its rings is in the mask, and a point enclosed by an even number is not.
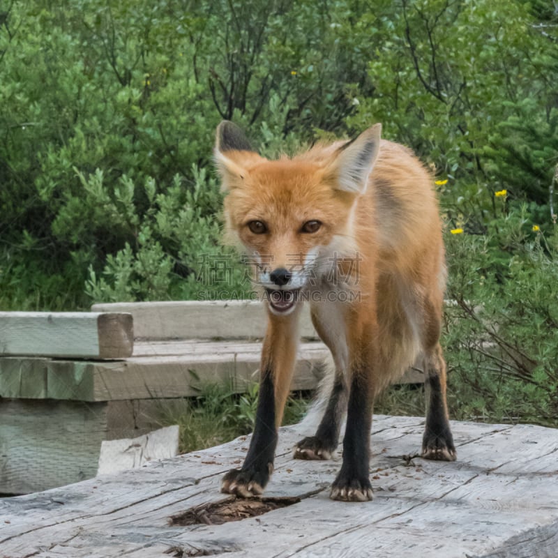
<svg viewBox="0 0 558 558"><path fill-rule="evenodd" d="M108 255L102 273L90 267L86 292L93 301L249 296L250 282L238 258L220 246L214 217L221 205L217 183L205 169L194 168L192 174L190 187L176 175L172 186L159 194L153 179L138 188L122 176L113 195L101 172L81 175L85 199L102 200L99 218L110 223L120 216L123 233L133 239L116 255ZM135 199L146 200L142 216Z"/></svg>

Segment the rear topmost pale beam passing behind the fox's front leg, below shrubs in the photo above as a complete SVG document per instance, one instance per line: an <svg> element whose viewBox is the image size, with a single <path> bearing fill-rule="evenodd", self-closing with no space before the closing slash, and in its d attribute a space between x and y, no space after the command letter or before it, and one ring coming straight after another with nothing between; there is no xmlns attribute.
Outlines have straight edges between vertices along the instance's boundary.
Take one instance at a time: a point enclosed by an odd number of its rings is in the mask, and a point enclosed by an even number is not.
<svg viewBox="0 0 558 558"><path fill-rule="evenodd" d="M137 338L261 339L266 314L259 301L174 301L94 304L93 312L130 312ZM301 336L317 338L308 305L301 315Z"/></svg>

